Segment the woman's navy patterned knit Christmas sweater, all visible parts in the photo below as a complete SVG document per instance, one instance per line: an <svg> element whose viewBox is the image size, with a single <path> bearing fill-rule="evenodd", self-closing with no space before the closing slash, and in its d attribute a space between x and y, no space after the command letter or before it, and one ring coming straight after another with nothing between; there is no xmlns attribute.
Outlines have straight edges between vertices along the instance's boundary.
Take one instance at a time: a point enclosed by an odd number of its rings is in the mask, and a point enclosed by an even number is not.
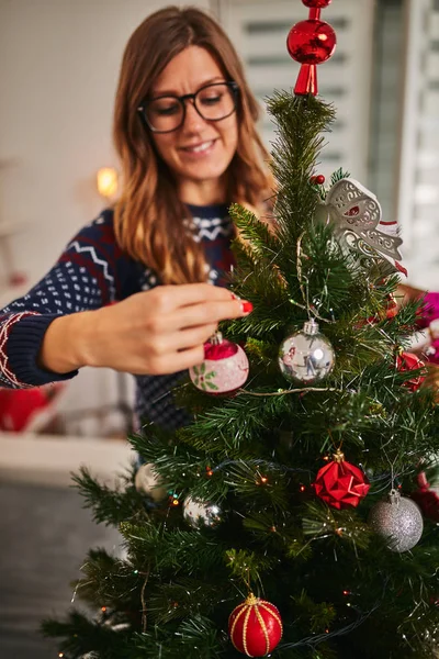
<svg viewBox="0 0 439 659"><path fill-rule="evenodd" d="M224 275L233 263L233 225L227 206L188 209L195 239L204 246L209 281L224 286ZM125 300L159 283L153 270L121 252L114 236L113 211L103 211L74 237L52 270L27 294L0 311L0 387L21 389L74 378L78 371L57 375L37 366L52 321ZM146 417L165 428L188 423L188 413L175 406L171 394L182 375L135 376L137 418Z"/></svg>

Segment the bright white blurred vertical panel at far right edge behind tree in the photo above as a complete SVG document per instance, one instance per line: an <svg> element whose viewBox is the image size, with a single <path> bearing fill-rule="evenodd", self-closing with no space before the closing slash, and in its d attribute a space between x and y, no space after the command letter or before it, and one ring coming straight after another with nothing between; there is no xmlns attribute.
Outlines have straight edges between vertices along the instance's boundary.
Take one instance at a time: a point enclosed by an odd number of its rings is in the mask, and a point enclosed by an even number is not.
<svg viewBox="0 0 439 659"><path fill-rule="evenodd" d="M439 0L407 1L406 41L398 219L410 282L438 290Z"/></svg>

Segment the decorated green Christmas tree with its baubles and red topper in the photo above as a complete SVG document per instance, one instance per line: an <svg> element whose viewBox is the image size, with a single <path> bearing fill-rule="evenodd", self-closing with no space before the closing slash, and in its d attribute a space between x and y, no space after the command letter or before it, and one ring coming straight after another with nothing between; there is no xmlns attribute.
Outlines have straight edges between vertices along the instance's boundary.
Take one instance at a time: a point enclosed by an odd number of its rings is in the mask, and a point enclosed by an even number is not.
<svg viewBox="0 0 439 659"><path fill-rule="evenodd" d="M230 287L254 312L222 325L175 392L193 424L146 423L130 437L144 463L116 490L75 477L125 552L85 561L76 596L99 615L44 623L66 659L437 656L439 509L412 498L439 450L407 351L419 304L395 308L401 239L380 231L373 194L318 175L334 109L316 64L335 35L329 0L304 3L294 93L269 101L273 222L230 210Z"/></svg>

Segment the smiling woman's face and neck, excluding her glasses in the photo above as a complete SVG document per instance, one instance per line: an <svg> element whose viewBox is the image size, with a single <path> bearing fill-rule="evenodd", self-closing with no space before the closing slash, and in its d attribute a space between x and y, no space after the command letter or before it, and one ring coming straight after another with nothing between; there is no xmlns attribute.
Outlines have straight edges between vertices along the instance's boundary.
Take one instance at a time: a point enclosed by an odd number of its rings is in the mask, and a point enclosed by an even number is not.
<svg viewBox="0 0 439 659"><path fill-rule="evenodd" d="M195 93L211 82L223 82L224 75L212 55L189 46L168 64L155 81L150 97ZM224 172L238 144L237 114L221 121L206 121L185 100L183 124L171 133L154 133L157 150L173 171L182 201L194 204L227 201Z"/></svg>

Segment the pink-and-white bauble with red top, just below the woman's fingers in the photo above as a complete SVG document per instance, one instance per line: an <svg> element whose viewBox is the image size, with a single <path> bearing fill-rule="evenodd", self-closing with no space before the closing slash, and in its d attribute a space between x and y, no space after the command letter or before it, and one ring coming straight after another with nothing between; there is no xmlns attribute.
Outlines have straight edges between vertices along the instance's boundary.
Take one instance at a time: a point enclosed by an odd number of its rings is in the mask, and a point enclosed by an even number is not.
<svg viewBox="0 0 439 659"><path fill-rule="evenodd" d="M249 364L243 348L225 338L221 332L204 344L204 361L189 369L198 389L206 393L230 393L247 380Z"/></svg>

